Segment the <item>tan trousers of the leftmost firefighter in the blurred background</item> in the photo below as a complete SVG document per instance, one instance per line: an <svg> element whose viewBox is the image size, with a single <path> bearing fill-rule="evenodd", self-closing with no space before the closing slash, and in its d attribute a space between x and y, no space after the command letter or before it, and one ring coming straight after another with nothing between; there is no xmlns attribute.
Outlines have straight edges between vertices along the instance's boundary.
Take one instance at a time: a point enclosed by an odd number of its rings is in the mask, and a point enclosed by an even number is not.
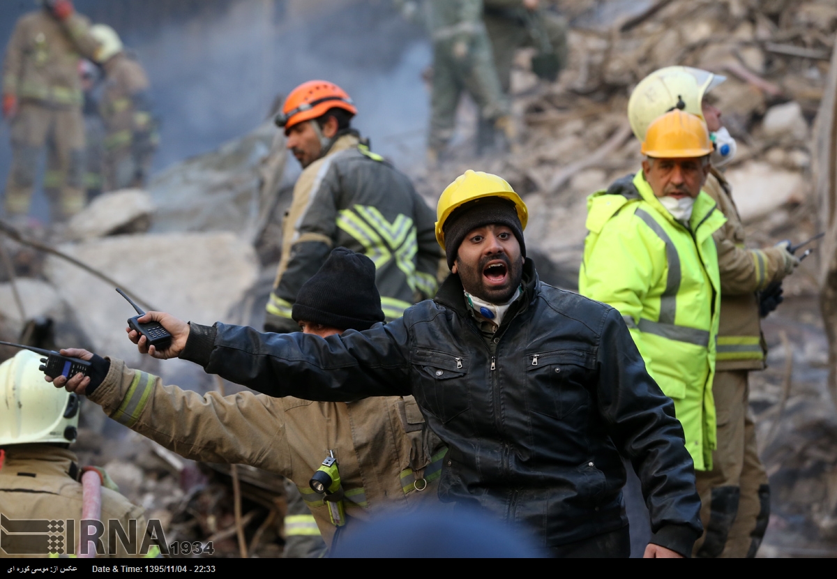
<svg viewBox="0 0 837 579"><path fill-rule="evenodd" d="M64 220L84 208L85 124L81 111L24 101L12 121L12 169L5 202L8 217L28 214L44 146L44 192L52 220Z"/></svg>

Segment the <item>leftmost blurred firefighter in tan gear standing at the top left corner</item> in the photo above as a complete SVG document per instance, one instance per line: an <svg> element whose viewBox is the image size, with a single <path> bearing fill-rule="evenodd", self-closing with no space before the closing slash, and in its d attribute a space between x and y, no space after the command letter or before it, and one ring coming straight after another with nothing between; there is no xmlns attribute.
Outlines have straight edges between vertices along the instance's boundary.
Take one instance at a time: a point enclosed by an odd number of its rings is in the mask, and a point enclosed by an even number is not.
<svg viewBox="0 0 837 579"><path fill-rule="evenodd" d="M69 0L44 0L15 25L3 62L3 116L12 131L6 217L25 220L44 145L44 191L53 222L85 206L85 126L80 57L95 59L99 44L87 18Z"/></svg>

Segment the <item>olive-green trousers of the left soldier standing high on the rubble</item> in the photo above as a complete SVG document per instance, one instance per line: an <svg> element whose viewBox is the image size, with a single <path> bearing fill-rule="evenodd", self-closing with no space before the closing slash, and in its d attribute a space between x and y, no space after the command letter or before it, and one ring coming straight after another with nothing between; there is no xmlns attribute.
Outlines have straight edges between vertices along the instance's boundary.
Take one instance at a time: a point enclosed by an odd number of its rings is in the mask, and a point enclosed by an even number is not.
<svg viewBox="0 0 837 579"><path fill-rule="evenodd" d="M509 114L509 102L501 91L485 31L434 42L428 138L431 149L441 151L454 136L456 108L463 90L492 125Z"/></svg>

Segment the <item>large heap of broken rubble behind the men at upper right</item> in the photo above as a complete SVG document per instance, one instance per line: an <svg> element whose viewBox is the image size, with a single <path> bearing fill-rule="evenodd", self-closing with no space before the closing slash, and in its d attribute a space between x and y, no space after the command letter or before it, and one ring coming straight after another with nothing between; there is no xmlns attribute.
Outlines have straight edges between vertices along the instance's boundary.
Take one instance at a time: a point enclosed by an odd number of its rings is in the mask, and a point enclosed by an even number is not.
<svg viewBox="0 0 837 579"><path fill-rule="evenodd" d="M439 171L414 168L420 192L435 199L465 168L482 167L523 192L527 237L567 274L578 273L586 197L636 172L641 155L626 110L634 86L655 69L684 64L723 74L712 90L721 120L737 139L727 167L753 243L814 233L809 203L811 131L837 32L830 0L657 0L557 4L572 25L570 63L557 83L531 73L531 52L513 72L521 150L475 159L475 110L465 105ZM804 276L794 276L803 278ZM786 293L813 290L811 279Z"/></svg>

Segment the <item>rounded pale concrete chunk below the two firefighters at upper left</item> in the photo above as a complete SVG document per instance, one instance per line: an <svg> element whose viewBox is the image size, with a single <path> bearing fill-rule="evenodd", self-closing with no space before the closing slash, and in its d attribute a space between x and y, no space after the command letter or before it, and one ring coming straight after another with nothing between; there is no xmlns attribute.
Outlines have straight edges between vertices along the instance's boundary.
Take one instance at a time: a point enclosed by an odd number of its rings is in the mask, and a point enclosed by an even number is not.
<svg viewBox="0 0 837 579"><path fill-rule="evenodd" d="M151 228L154 202L140 189L124 189L96 197L67 224L69 241L100 238L120 233L144 233Z"/></svg>

